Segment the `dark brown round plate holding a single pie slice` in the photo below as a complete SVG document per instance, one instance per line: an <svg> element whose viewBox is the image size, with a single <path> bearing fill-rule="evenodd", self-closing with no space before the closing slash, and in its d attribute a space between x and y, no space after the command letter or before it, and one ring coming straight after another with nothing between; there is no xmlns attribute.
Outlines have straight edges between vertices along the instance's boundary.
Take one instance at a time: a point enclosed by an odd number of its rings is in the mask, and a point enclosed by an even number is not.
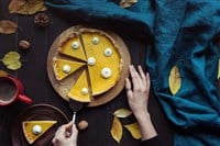
<svg viewBox="0 0 220 146"><path fill-rule="evenodd" d="M57 124L51 127L46 133L44 133L37 141L35 141L32 146L47 146L52 145L52 138L56 130L63 125L68 123L67 116L57 108L48 104L35 104L30 106L26 111L24 111L16 121L14 121L11 136L13 146L29 146L23 130L22 122L23 121L57 121Z"/></svg>

